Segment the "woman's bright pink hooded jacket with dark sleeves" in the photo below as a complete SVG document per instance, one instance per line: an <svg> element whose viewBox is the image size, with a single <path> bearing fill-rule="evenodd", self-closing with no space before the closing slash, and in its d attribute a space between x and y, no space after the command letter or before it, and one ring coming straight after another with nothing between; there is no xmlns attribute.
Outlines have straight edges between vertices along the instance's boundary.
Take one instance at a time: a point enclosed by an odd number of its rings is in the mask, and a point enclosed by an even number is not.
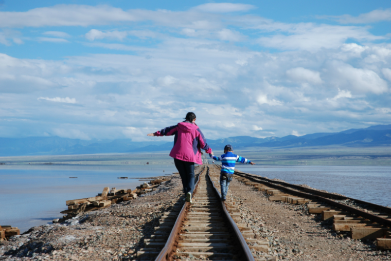
<svg viewBox="0 0 391 261"><path fill-rule="evenodd" d="M175 135L174 146L170 153L170 156L175 159L201 165L201 148L206 153L212 152L212 149L206 144L205 137L200 128L195 123L184 121L175 126L164 128L160 132L155 132L155 136L170 135Z"/></svg>

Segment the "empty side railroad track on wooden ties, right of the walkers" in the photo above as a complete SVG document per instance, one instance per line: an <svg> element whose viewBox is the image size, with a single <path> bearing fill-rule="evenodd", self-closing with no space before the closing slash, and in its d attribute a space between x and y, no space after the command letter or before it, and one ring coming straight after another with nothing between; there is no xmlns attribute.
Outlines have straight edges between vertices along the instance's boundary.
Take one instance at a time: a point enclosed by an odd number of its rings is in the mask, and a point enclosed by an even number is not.
<svg viewBox="0 0 391 261"><path fill-rule="evenodd" d="M240 171L234 176L269 200L306 204L309 214L322 215L334 231L350 233L352 239L376 239L378 249L391 250L391 208Z"/></svg>

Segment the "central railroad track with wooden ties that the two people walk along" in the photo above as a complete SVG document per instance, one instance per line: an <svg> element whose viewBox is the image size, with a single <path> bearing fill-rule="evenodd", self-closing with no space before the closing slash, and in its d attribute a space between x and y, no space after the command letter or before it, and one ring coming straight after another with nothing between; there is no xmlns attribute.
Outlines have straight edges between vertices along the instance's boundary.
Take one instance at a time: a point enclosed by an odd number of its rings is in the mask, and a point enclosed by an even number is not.
<svg viewBox="0 0 391 261"><path fill-rule="evenodd" d="M137 252L138 260L276 260L268 254L268 242L259 239L251 228L238 228L239 211L227 202L211 181L209 167L197 175L193 203L182 203L180 211L164 213L159 227L145 247ZM258 243L258 244L254 244ZM250 246L255 245L255 246ZM257 258L254 258L254 255Z"/></svg>

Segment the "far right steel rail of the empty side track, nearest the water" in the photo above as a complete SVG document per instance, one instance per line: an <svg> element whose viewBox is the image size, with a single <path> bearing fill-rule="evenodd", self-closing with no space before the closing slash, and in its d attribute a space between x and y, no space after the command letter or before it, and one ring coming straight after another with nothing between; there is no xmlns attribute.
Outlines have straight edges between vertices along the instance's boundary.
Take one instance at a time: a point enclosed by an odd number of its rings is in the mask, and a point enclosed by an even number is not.
<svg viewBox="0 0 391 261"><path fill-rule="evenodd" d="M251 177L254 177L256 179L261 179L261 180L264 180L266 182L281 184L284 187L290 187L290 188L294 188L294 189L298 189L298 190L307 191L307 192L313 193L315 195L324 196L324 197L327 197L327 198L335 198L335 199L339 199L339 200L346 200L346 199L354 200L357 203L365 204L365 205L368 205L369 207L376 208L378 210L381 210L381 211L384 211L386 213L391 214L391 208L384 207L384 206L381 206L381 205L378 205L378 204L375 204L375 203L363 201L363 200L356 199L356 198L350 198L350 197L346 197L346 196L342 196L342 195L335 195L335 194L332 194L332 193L318 191L318 190L314 190L314 189L304 188L304 187L301 187L299 185L287 183L285 181L274 181L274 180L271 180L271 179L268 179L268 178L260 177L258 175L235 171L235 174L238 174L238 173L241 173L241 174L246 175L246 176L251 176Z"/></svg>

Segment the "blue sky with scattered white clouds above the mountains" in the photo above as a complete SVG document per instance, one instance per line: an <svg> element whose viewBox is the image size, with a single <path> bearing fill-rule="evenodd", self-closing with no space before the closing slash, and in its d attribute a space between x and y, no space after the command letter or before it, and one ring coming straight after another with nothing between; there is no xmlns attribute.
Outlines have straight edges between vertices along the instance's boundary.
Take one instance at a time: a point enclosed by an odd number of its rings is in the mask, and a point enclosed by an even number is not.
<svg viewBox="0 0 391 261"><path fill-rule="evenodd" d="M390 25L389 0L0 0L0 137L390 124Z"/></svg>

